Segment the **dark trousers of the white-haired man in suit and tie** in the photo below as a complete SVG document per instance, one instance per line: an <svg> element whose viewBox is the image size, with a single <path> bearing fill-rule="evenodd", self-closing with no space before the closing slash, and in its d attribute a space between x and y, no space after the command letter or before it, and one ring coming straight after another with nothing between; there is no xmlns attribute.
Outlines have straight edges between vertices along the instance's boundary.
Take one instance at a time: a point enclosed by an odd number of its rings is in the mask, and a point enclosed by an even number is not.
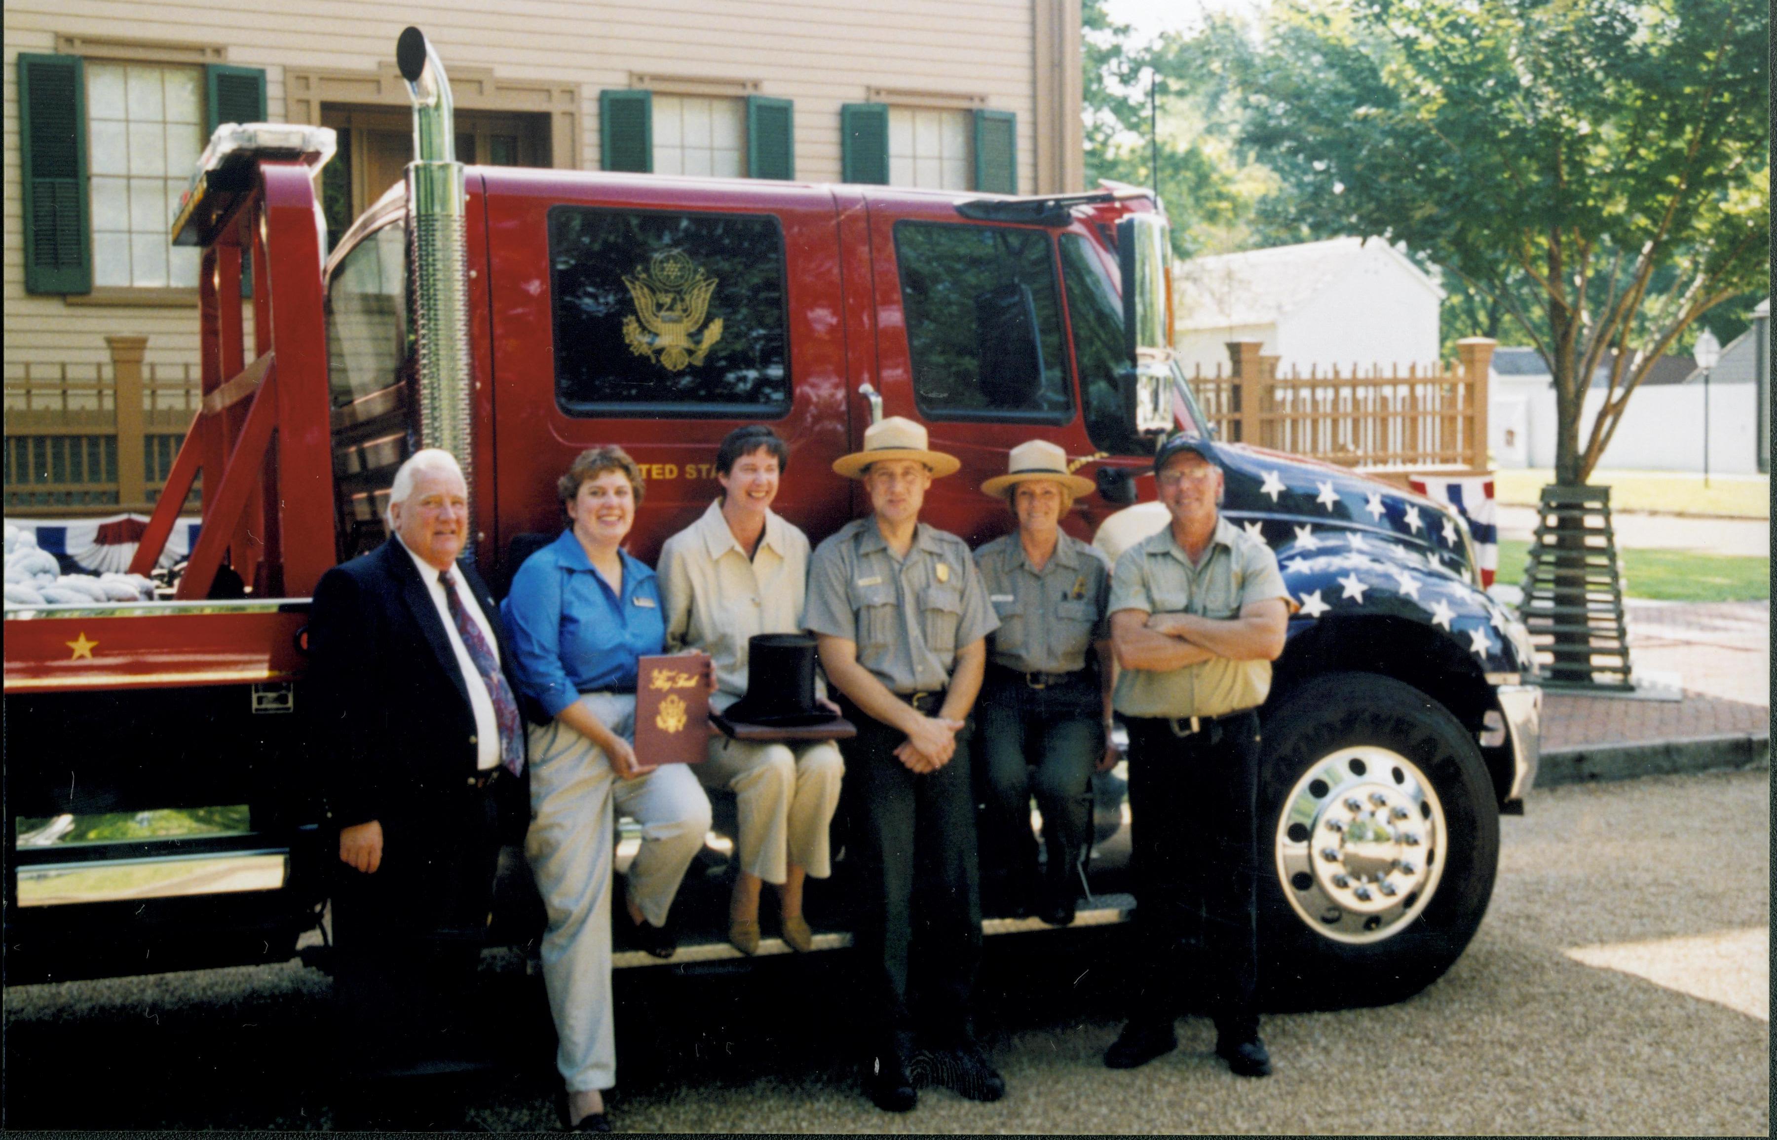
<svg viewBox="0 0 1777 1140"><path fill-rule="evenodd" d="M510 778L501 778L514 785ZM499 858L499 785L426 797L382 822L382 865L338 863L332 891L338 1076L473 1065L471 994Z"/></svg>

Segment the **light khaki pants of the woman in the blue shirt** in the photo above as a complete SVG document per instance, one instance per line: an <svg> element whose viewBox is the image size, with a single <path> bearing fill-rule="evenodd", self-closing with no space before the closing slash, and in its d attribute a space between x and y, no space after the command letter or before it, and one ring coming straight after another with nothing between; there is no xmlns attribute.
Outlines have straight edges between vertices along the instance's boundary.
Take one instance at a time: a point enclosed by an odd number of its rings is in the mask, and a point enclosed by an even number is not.
<svg viewBox="0 0 1777 1140"><path fill-rule="evenodd" d="M606 728L631 739L633 694L586 693L579 700ZM629 895L659 927L709 833L709 797L682 764L618 780L604 753L562 721L533 724L530 744L531 829L524 854L549 913L542 957L560 1041L556 1069L570 1092L610 1089L617 1083L611 1032L617 813L641 824L641 851L629 865Z"/></svg>

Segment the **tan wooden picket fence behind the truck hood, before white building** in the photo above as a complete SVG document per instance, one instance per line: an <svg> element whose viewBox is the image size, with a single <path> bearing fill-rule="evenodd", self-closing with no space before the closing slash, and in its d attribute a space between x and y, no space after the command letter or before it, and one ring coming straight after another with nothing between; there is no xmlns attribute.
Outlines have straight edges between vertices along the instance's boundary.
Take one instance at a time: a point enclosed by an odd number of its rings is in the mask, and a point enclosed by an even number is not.
<svg viewBox="0 0 1777 1140"><path fill-rule="evenodd" d="M1445 371L1356 364L1278 375L1256 341L1228 344L1230 373L1191 385L1219 437L1365 471L1486 471L1487 368L1494 341L1457 341Z"/></svg>

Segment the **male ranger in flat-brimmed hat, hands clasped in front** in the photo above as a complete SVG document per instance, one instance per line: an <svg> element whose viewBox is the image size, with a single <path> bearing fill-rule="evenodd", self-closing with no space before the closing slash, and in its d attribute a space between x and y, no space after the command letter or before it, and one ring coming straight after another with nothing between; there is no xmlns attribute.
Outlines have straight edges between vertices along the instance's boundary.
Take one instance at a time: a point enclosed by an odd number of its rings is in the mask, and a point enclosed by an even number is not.
<svg viewBox="0 0 1777 1140"><path fill-rule="evenodd" d="M920 424L899 416L873 424L864 451L833 462L864 481L871 517L841 527L809 565L803 623L858 726L842 746L842 810L862 863L864 1092L888 1112L919 1101L915 1051L938 1083L970 1099L1006 1094L968 1025L981 959L968 712L999 621L963 540L919 522L931 479L958 467L926 446ZM910 994L915 957L922 987Z"/></svg>

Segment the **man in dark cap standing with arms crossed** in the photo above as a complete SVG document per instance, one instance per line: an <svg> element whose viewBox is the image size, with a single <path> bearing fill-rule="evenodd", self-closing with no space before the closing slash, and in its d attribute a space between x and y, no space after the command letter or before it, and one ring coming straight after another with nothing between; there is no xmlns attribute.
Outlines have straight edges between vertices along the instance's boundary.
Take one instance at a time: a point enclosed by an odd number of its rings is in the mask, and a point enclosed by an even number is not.
<svg viewBox="0 0 1777 1140"><path fill-rule="evenodd" d="M1265 1076L1253 913L1258 707L1294 602L1271 547L1221 517L1208 440L1162 440L1153 483L1171 520L1111 575L1139 962L1105 1065L1134 1069L1173 1049L1185 986L1199 980L1215 1053L1240 1076ZM1180 961L1191 941L1203 948L1196 970Z"/></svg>

